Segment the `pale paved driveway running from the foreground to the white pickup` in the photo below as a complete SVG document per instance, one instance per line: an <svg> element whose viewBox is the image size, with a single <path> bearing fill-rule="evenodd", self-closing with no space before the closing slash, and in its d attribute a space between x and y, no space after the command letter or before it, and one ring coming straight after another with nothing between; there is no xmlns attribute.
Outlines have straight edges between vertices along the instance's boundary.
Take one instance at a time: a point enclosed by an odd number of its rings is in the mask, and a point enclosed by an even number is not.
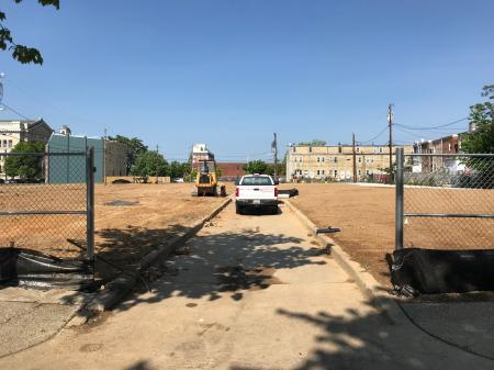
<svg viewBox="0 0 494 370"><path fill-rule="evenodd" d="M324 204L322 204L324 206ZM392 324L284 208L229 205L135 292L1 369L492 369L408 321Z"/></svg>

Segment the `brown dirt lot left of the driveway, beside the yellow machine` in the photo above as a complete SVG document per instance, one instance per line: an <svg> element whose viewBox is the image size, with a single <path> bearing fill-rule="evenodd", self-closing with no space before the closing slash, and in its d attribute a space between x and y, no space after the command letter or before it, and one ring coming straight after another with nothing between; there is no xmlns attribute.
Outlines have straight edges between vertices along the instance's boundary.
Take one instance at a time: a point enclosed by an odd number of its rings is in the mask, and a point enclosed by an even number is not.
<svg viewBox="0 0 494 370"><path fill-rule="evenodd" d="M96 187L97 254L123 268L135 266L153 248L164 245L223 202L223 198L192 198L192 184L111 184ZM228 193L232 186L229 186ZM5 186L2 210L83 211L82 186ZM0 217L0 246L36 249L75 257L85 247L85 215L23 215ZM60 227L61 225L61 227ZM67 242L67 239L70 239ZM77 247L79 245L80 247ZM100 274L112 273L100 264ZM113 271L114 272L114 271Z"/></svg>

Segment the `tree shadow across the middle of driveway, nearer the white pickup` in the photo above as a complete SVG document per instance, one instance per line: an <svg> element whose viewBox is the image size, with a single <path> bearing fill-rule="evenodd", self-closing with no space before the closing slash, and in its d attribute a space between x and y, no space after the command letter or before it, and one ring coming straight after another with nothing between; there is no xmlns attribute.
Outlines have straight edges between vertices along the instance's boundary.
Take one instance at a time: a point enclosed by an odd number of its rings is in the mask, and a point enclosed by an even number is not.
<svg viewBox="0 0 494 370"><path fill-rule="evenodd" d="M277 269L326 264L321 258L314 258L324 254L323 249L303 247L300 245L302 242L297 237L252 229L210 235L202 233L180 247L175 256L150 268L150 280L159 279L149 284L150 293L145 293L145 287L141 285L141 291L115 310L128 310L139 303L157 303L170 296L242 300L247 290L283 283L274 277ZM156 279L153 279L153 273L156 273Z"/></svg>

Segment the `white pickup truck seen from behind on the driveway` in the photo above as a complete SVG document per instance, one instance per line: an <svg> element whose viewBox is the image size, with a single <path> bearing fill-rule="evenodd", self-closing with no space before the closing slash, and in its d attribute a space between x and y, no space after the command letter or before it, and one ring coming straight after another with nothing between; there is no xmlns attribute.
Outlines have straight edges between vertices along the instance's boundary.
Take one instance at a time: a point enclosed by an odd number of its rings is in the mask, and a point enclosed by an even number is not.
<svg viewBox="0 0 494 370"><path fill-rule="evenodd" d="M246 175L235 188L235 206L238 214L246 208L268 209L278 213L278 188L268 175Z"/></svg>

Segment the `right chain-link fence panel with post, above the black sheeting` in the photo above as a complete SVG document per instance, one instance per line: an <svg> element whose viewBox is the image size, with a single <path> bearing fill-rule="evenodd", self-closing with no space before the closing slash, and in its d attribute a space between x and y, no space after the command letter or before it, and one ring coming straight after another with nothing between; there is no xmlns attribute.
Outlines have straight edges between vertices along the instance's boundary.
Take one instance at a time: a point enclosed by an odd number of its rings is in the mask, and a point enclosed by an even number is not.
<svg viewBox="0 0 494 370"><path fill-rule="evenodd" d="M396 157L396 249L494 248L494 155Z"/></svg>

